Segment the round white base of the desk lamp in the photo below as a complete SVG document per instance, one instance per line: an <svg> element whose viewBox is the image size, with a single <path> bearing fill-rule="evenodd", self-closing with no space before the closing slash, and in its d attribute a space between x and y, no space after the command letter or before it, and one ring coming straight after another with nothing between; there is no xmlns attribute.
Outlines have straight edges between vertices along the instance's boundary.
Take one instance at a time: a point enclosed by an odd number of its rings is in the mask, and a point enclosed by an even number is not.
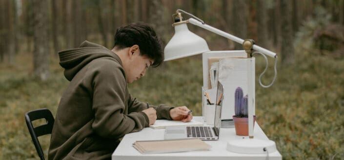
<svg viewBox="0 0 344 160"><path fill-rule="evenodd" d="M227 142L227 151L243 154L266 154L277 151L276 143L271 140L237 139Z"/></svg>

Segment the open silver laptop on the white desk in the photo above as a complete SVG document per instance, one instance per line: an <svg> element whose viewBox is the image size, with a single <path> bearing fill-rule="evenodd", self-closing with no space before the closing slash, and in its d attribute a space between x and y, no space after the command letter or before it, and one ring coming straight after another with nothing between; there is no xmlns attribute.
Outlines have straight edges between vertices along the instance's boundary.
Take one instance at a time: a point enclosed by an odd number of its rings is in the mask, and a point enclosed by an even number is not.
<svg viewBox="0 0 344 160"><path fill-rule="evenodd" d="M194 139L219 140L221 128L221 110L223 102L223 85L218 82L214 125L207 126L166 126L165 140Z"/></svg>

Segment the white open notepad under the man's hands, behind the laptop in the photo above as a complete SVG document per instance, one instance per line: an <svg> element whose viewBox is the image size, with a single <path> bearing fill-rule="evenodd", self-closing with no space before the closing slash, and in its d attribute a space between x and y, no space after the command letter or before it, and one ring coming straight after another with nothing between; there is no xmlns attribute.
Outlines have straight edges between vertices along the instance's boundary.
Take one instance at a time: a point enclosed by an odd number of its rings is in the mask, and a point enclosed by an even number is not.
<svg viewBox="0 0 344 160"><path fill-rule="evenodd" d="M153 125L149 127L153 129L161 129L165 128L166 126L201 126L203 125L202 122L198 121L189 121L189 122L182 122L182 121L170 121L170 120L157 120Z"/></svg>

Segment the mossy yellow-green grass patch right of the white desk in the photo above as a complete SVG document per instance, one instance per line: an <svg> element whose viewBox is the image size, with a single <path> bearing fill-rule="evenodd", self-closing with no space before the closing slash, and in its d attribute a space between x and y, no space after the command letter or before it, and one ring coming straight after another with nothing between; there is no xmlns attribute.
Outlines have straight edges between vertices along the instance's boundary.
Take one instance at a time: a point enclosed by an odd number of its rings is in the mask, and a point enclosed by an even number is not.
<svg viewBox="0 0 344 160"><path fill-rule="evenodd" d="M256 89L258 122L283 159L344 156L344 60L309 56Z"/></svg>

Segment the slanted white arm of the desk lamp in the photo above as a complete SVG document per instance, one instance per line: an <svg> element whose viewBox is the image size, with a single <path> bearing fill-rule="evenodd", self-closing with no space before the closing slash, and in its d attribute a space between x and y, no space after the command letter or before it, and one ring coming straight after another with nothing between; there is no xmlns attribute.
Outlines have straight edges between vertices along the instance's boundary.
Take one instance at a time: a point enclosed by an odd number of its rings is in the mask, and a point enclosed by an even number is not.
<svg viewBox="0 0 344 160"><path fill-rule="evenodd" d="M202 22L200 22L199 20L197 20L197 19L195 19L195 18L189 18L188 21L189 21L191 24L193 24L193 25L199 26L199 27L201 27L201 28L203 28L203 29L205 29L205 30L208 30L208 31L210 31L210 32L213 32L213 33L215 33L215 34L217 34L217 35L226 37L226 38L231 39L231 40L233 40L233 41L235 41L235 42L237 42L237 43L243 44L243 41L244 41L243 39L241 39L241 38L239 38L239 37L237 37L237 36L233 36L233 35L231 35L231 34L228 34L228 33L226 33L226 32L223 32L223 31L221 31L221 30L219 30L219 29L217 29L217 28L215 28L215 27L209 26L209 25L207 25L207 24L205 24L205 23L203 24ZM254 50L256 50L256 51L259 51L259 52L261 52L261 53L264 53L264 54L266 54L266 55L268 55L268 56L270 56L270 57L273 57L273 58L276 58L276 56L277 56L276 53L273 53L273 52L271 52L271 51L269 51L269 50L266 50L266 49L264 49L264 48L262 48L262 47L259 47L259 46L257 46L257 45L253 45L252 48L253 48Z"/></svg>

